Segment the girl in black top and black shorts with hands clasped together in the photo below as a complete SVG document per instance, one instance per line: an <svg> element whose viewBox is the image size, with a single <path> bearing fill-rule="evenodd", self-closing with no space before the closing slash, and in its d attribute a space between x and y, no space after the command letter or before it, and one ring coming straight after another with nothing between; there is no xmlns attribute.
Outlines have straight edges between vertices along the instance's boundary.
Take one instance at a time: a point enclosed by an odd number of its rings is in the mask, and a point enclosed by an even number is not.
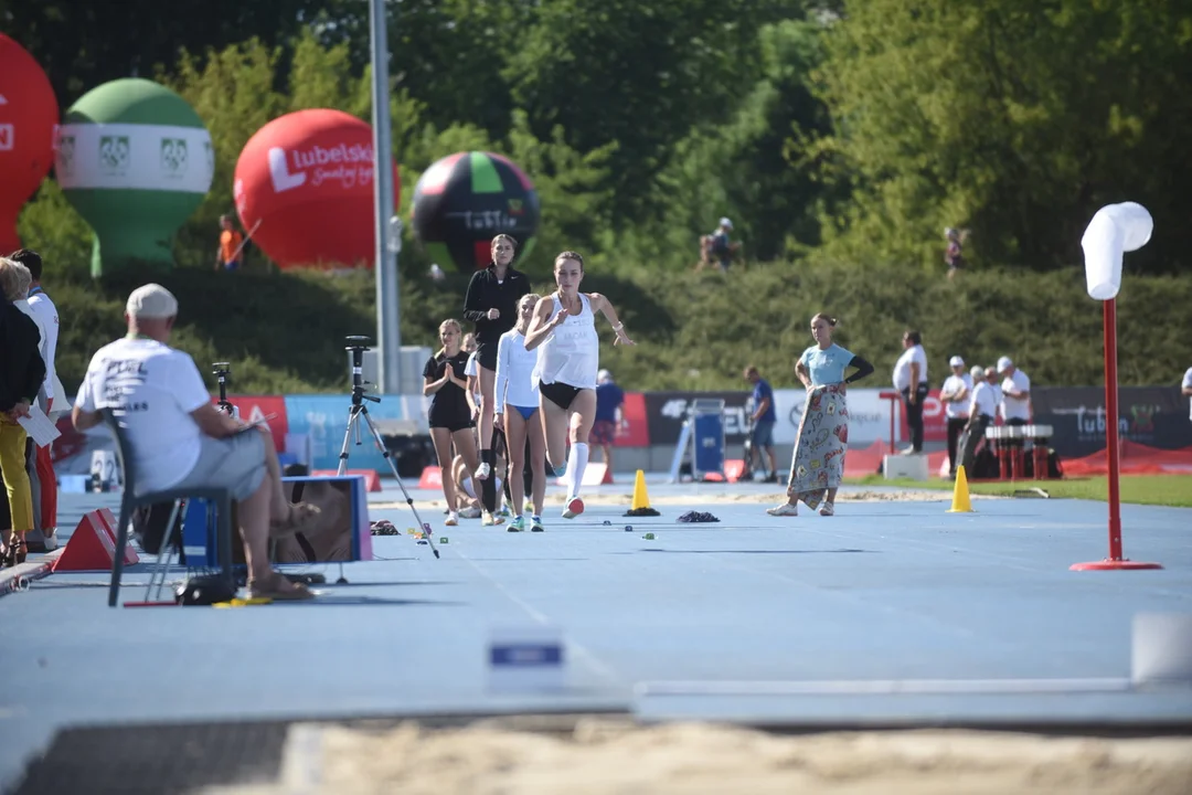
<svg viewBox="0 0 1192 795"><path fill-rule="evenodd" d="M446 523L451 526L459 523L459 513L455 510L455 482L451 477L452 442L455 442L455 449L464 456L472 472L476 472L477 466L476 440L472 437L476 423L472 422L465 392L467 380L464 377L464 367L467 365L467 354L460 348L462 337L459 321L443 321L439 327L439 339L443 347L428 359L427 366L422 368L422 377L426 379L422 393L434 396L430 399L430 439L435 443L435 454L439 456L439 468L442 473L443 497L449 508Z"/></svg>

